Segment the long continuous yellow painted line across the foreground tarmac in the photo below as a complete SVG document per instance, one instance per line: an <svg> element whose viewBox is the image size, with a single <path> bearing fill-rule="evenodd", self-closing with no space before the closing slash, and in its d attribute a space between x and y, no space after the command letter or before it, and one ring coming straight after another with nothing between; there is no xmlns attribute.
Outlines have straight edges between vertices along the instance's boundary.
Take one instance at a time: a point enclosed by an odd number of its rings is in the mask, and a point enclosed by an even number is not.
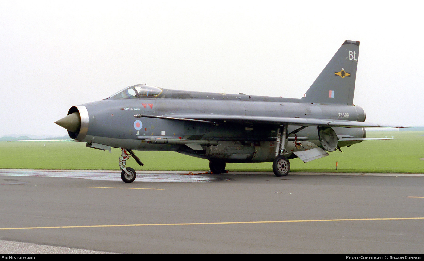
<svg viewBox="0 0 424 261"><path fill-rule="evenodd" d="M33 228L0 228L0 230L39 229L39 228L107 228L107 227L177 226L177 225L228 225L228 224L258 224L258 223L323 222L323 221L408 220L408 219L424 219L424 217L359 218L359 219L311 219L311 220L279 220L279 221L131 224L131 225L92 225L92 226L62 226L62 227L33 227Z"/></svg>

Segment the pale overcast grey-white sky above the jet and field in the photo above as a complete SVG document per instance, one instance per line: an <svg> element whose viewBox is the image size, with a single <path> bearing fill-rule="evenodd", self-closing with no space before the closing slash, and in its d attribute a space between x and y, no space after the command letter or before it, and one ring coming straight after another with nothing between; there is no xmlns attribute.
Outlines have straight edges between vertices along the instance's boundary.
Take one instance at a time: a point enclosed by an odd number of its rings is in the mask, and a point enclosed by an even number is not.
<svg viewBox="0 0 424 261"><path fill-rule="evenodd" d="M0 137L138 83L300 98L345 39L367 122L424 125L422 5L0 0Z"/></svg>

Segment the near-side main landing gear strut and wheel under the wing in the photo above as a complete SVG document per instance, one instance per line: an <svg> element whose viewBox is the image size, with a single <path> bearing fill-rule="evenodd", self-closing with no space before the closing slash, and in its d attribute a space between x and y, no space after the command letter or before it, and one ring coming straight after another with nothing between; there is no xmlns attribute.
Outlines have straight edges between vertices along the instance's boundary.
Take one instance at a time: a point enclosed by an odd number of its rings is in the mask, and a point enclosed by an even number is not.
<svg viewBox="0 0 424 261"><path fill-rule="evenodd" d="M287 176L290 172L290 161L284 155L287 153L286 150L287 142L287 124L283 125L283 133L280 132L280 128L277 130L277 144L275 149L275 159L272 164L272 170L277 177Z"/></svg>

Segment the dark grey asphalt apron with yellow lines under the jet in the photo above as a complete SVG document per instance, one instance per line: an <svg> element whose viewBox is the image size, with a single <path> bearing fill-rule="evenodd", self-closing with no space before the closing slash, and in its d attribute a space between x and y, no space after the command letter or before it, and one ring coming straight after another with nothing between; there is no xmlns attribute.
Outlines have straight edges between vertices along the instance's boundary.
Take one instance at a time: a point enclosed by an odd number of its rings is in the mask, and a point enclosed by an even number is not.
<svg viewBox="0 0 424 261"><path fill-rule="evenodd" d="M424 175L182 173L0 170L0 253L424 249Z"/></svg>

